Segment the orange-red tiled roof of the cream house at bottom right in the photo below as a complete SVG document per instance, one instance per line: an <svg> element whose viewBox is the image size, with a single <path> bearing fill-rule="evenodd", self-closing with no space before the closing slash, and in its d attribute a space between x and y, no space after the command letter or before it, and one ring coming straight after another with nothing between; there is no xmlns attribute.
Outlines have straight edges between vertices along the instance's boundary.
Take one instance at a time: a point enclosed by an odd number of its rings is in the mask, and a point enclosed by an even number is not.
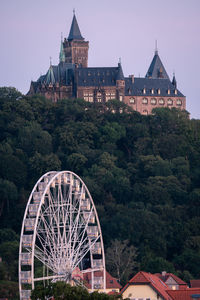
<svg viewBox="0 0 200 300"><path fill-rule="evenodd" d="M169 295L167 294L168 286L156 275L147 272L138 272L122 289L123 293L130 285L150 285L163 299L169 300Z"/></svg>

